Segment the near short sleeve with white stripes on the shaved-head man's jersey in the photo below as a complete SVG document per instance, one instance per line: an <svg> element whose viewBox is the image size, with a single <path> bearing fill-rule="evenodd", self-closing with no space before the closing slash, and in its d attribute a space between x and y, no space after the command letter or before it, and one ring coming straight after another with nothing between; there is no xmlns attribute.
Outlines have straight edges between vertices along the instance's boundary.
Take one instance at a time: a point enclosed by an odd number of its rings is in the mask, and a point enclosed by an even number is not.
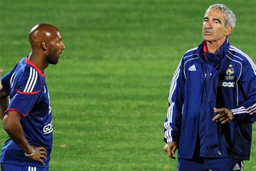
<svg viewBox="0 0 256 171"><path fill-rule="evenodd" d="M42 83L38 72L33 67L27 67L16 79L14 80L16 85L13 85L15 94L12 96L6 112L16 111L25 117L33 110L40 98Z"/></svg>

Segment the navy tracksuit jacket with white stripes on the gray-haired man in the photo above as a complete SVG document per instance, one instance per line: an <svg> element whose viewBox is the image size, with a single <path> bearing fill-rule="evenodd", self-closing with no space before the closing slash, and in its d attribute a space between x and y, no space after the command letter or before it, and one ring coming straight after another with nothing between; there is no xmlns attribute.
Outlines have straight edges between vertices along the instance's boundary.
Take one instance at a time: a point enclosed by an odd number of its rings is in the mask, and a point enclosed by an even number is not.
<svg viewBox="0 0 256 171"><path fill-rule="evenodd" d="M174 73L164 141L176 141L184 159L249 160L256 120L256 66L228 39L218 54L204 48L202 43L187 51ZM213 107L233 111L234 122L213 122Z"/></svg>

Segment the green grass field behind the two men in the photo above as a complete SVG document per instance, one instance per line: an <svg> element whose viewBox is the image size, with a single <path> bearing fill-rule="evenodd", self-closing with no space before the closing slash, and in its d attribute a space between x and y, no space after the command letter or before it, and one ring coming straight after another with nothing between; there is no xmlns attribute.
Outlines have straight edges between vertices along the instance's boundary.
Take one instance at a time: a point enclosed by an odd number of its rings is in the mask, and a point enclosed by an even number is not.
<svg viewBox="0 0 256 171"><path fill-rule="evenodd" d="M46 69L54 122L50 170L176 170L163 151L169 84L202 41L220 1L2 1L0 67L30 52L28 31L51 23L66 50ZM256 2L221 1L237 16L229 41L256 61ZM0 129L0 144L7 135ZM256 127L250 161L256 170Z"/></svg>

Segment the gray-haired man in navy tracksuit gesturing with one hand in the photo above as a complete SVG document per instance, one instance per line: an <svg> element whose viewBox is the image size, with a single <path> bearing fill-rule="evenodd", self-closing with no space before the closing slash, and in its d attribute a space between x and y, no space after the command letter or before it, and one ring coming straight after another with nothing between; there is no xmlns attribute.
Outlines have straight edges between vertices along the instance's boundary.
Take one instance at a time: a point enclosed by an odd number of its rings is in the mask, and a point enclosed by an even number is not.
<svg viewBox="0 0 256 171"><path fill-rule="evenodd" d="M203 42L187 51L171 81L164 151L181 170L243 170L256 120L256 66L229 44L236 25L223 4L205 12Z"/></svg>

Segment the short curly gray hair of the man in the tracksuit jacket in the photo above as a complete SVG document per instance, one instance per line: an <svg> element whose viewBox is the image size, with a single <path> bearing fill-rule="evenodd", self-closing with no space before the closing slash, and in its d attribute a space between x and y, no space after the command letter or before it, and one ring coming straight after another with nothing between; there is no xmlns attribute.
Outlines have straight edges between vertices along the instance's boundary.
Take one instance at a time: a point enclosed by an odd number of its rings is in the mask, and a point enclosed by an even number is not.
<svg viewBox="0 0 256 171"><path fill-rule="evenodd" d="M210 10L213 9L218 9L221 10L222 12L224 12L225 16L226 16L226 23L225 23L225 27L235 27L236 25L236 15L234 14L234 12L229 9L228 7L224 6L223 4L214 4L211 5L210 7L208 7L208 9L205 11L205 15L208 14L208 12L210 12Z"/></svg>

